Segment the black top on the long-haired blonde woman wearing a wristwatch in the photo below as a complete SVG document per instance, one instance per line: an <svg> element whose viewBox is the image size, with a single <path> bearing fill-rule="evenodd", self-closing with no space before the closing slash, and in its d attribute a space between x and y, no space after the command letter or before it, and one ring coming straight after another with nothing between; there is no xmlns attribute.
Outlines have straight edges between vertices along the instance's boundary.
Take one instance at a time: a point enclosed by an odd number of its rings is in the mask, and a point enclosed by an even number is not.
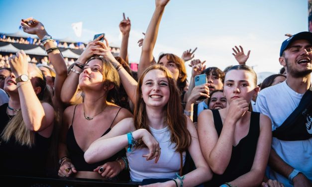
<svg viewBox="0 0 312 187"><path fill-rule="evenodd" d="M0 133L13 117L6 114L8 103L0 106ZM50 138L35 134L35 143L28 147L16 142L12 136L8 142L0 138L0 175L19 175L32 177L46 176L46 161Z"/></svg>

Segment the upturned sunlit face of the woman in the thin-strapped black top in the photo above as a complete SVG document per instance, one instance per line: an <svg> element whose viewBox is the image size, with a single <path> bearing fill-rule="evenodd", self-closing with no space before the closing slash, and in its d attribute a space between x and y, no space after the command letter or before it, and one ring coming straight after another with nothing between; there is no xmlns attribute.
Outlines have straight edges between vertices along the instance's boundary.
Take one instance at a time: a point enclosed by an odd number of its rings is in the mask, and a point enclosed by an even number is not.
<svg viewBox="0 0 312 187"><path fill-rule="evenodd" d="M99 59L91 60L79 75L79 87L84 88L104 88L103 84L103 63Z"/></svg>

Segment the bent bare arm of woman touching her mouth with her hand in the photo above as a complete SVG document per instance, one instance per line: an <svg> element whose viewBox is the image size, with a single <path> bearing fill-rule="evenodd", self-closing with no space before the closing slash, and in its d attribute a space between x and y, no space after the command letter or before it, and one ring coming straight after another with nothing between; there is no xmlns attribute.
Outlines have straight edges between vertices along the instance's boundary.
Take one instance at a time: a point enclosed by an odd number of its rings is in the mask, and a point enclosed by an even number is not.
<svg viewBox="0 0 312 187"><path fill-rule="evenodd" d="M220 136L214 127L211 110L204 110L198 117L198 133L205 160L213 173L222 175L231 159L235 124L248 110L243 98L233 100L228 108Z"/></svg>

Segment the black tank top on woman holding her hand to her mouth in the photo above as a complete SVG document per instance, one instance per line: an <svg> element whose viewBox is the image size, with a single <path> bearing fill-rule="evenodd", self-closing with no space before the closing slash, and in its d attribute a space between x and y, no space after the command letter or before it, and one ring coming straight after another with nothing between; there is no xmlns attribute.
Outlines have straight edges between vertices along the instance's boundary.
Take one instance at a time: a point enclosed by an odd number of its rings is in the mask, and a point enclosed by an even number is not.
<svg viewBox="0 0 312 187"><path fill-rule="evenodd" d="M218 136L222 130L222 120L218 110L211 110L214 126ZM260 113L251 112L250 126L247 136L242 138L238 145L232 147L230 162L222 175L213 174L212 180L205 184L207 187L220 185L235 180L251 170L256 154L257 142L260 134Z"/></svg>

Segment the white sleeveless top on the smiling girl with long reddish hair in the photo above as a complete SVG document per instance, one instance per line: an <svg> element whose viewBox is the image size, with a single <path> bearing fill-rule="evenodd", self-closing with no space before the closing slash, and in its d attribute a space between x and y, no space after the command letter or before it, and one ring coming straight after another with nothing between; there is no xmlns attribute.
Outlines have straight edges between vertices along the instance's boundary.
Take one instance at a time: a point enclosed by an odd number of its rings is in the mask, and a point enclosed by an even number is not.
<svg viewBox="0 0 312 187"><path fill-rule="evenodd" d="M176 173L180 172L180 153L175 152L175 143L170 141L170 131L168 126L163 129L153 129L150 127L154 138L159 142L161 148L160 158L157 163L155 159L146 161L144 154L148 154L147 148L131 149L131 153L126 153L131 181L141 182L143 179L162 179L162 178L176 178ZM183 165L185 162L186 153L183 153Z"/></svg>

